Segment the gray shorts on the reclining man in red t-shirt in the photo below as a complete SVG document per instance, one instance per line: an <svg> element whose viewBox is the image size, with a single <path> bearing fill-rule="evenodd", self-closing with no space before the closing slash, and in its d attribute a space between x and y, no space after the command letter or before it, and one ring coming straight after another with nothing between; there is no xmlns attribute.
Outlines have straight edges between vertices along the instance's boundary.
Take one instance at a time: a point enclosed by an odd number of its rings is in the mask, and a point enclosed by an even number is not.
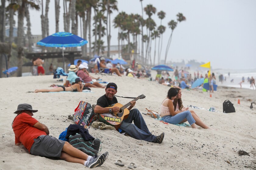
<svg viewBox="0 0 256 170"><path fill-rule="evenodd" d="M59 158L64 144L65 141L49 135L41 135L34 139L34 144L30 148L30 154Z"/></svg>

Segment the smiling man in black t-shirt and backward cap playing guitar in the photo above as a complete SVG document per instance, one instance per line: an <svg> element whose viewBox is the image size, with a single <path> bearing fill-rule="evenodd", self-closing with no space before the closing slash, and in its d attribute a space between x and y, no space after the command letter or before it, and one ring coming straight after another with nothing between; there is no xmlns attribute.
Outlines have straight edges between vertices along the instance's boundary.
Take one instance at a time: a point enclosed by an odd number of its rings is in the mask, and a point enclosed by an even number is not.
<svg viewBox="0 0 256 170"><path fill-rule="evenodd" d="M118 103L116 97L114 96L117 93L117 85L115 83L108 83L107 87L105 88L105 92L106 94L97 100L97 105L94 108L94 112L98 114L113 112L119 113L119 107L105 108L114 106L114 104ZM140 111L138 109L132 109L136 101L131 101L130 103L131 105L127 107L127 109L130 110L130 114L127 119L123 120L121 126L119 127L119 129L122 130L121 133L126 132L132 138L138 140L162 143L165 134L162 133L159 136L152 135L148 130ZM134 124L132 124L132 122Z"/></svg>

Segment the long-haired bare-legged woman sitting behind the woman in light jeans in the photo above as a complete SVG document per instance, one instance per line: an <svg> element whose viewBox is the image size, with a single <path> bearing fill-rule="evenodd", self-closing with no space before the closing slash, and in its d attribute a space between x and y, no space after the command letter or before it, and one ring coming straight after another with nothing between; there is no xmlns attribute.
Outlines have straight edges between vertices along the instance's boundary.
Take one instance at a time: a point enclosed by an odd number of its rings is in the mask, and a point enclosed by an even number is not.
<svg viewBox="0 0 256 170"><path fill-rule="evenodd" d="M179 110L181 110L181 111L185 111L185 110L188 110L189 108L187 107L187 108L185 108L185 107L183 107L183 105L182 105L182 100L181 100L181 90L180 90L180 88L175 88L177 91L178 91L178 94L177 94L177 97L174 99L174 101L173 101L173 105L174 105L174 107L175 107L175 111L179 111ZM197 114L193 111L193 110L189 110L190 111L190 113L192 114L192 117L195 119L195 124L197 124L198 126L201 126L201 127L203 127L204 129L212 129L212 128L210 128L209 126L207 126L206 124L204 124L202 121L201 121L201 119L197 116ZM181 121L180 123L184 123L184 122L186 122L187 120L186 119L184 119L183 121Z"/></svg>

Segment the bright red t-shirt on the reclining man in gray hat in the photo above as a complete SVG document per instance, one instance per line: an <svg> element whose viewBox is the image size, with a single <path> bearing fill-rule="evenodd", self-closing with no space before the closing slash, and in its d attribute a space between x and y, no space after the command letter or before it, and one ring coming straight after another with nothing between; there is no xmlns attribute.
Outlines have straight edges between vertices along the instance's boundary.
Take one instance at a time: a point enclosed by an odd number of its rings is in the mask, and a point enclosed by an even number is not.
<svg viewBox="0 0 256 170"><path fill-rule="evenodd" d="M38 136L46 135L45 131L33 127L37 122L35 118L26 113L19 114L13 120L12 128L15 134L15 144L21 142L29 153L34 139Z"/></svg>

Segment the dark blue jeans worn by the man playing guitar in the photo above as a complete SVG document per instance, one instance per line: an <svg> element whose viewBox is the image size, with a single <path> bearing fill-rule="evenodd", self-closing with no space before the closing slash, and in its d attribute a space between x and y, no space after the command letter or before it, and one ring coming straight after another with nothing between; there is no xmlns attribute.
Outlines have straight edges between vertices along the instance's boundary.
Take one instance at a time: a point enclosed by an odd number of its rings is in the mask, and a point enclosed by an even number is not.
<svg viewBox="0 0 256 170"><path fill-rule="evenodd" d="M132 122L134 124L132 124ZM132 138L148 141L148 142L155 142L156 136L152 135L148 130L148 127L140 114L138 109L130 110L130 114L127 119L123 120L119 129L122 129L127 134L129 134Z"/></svg>

